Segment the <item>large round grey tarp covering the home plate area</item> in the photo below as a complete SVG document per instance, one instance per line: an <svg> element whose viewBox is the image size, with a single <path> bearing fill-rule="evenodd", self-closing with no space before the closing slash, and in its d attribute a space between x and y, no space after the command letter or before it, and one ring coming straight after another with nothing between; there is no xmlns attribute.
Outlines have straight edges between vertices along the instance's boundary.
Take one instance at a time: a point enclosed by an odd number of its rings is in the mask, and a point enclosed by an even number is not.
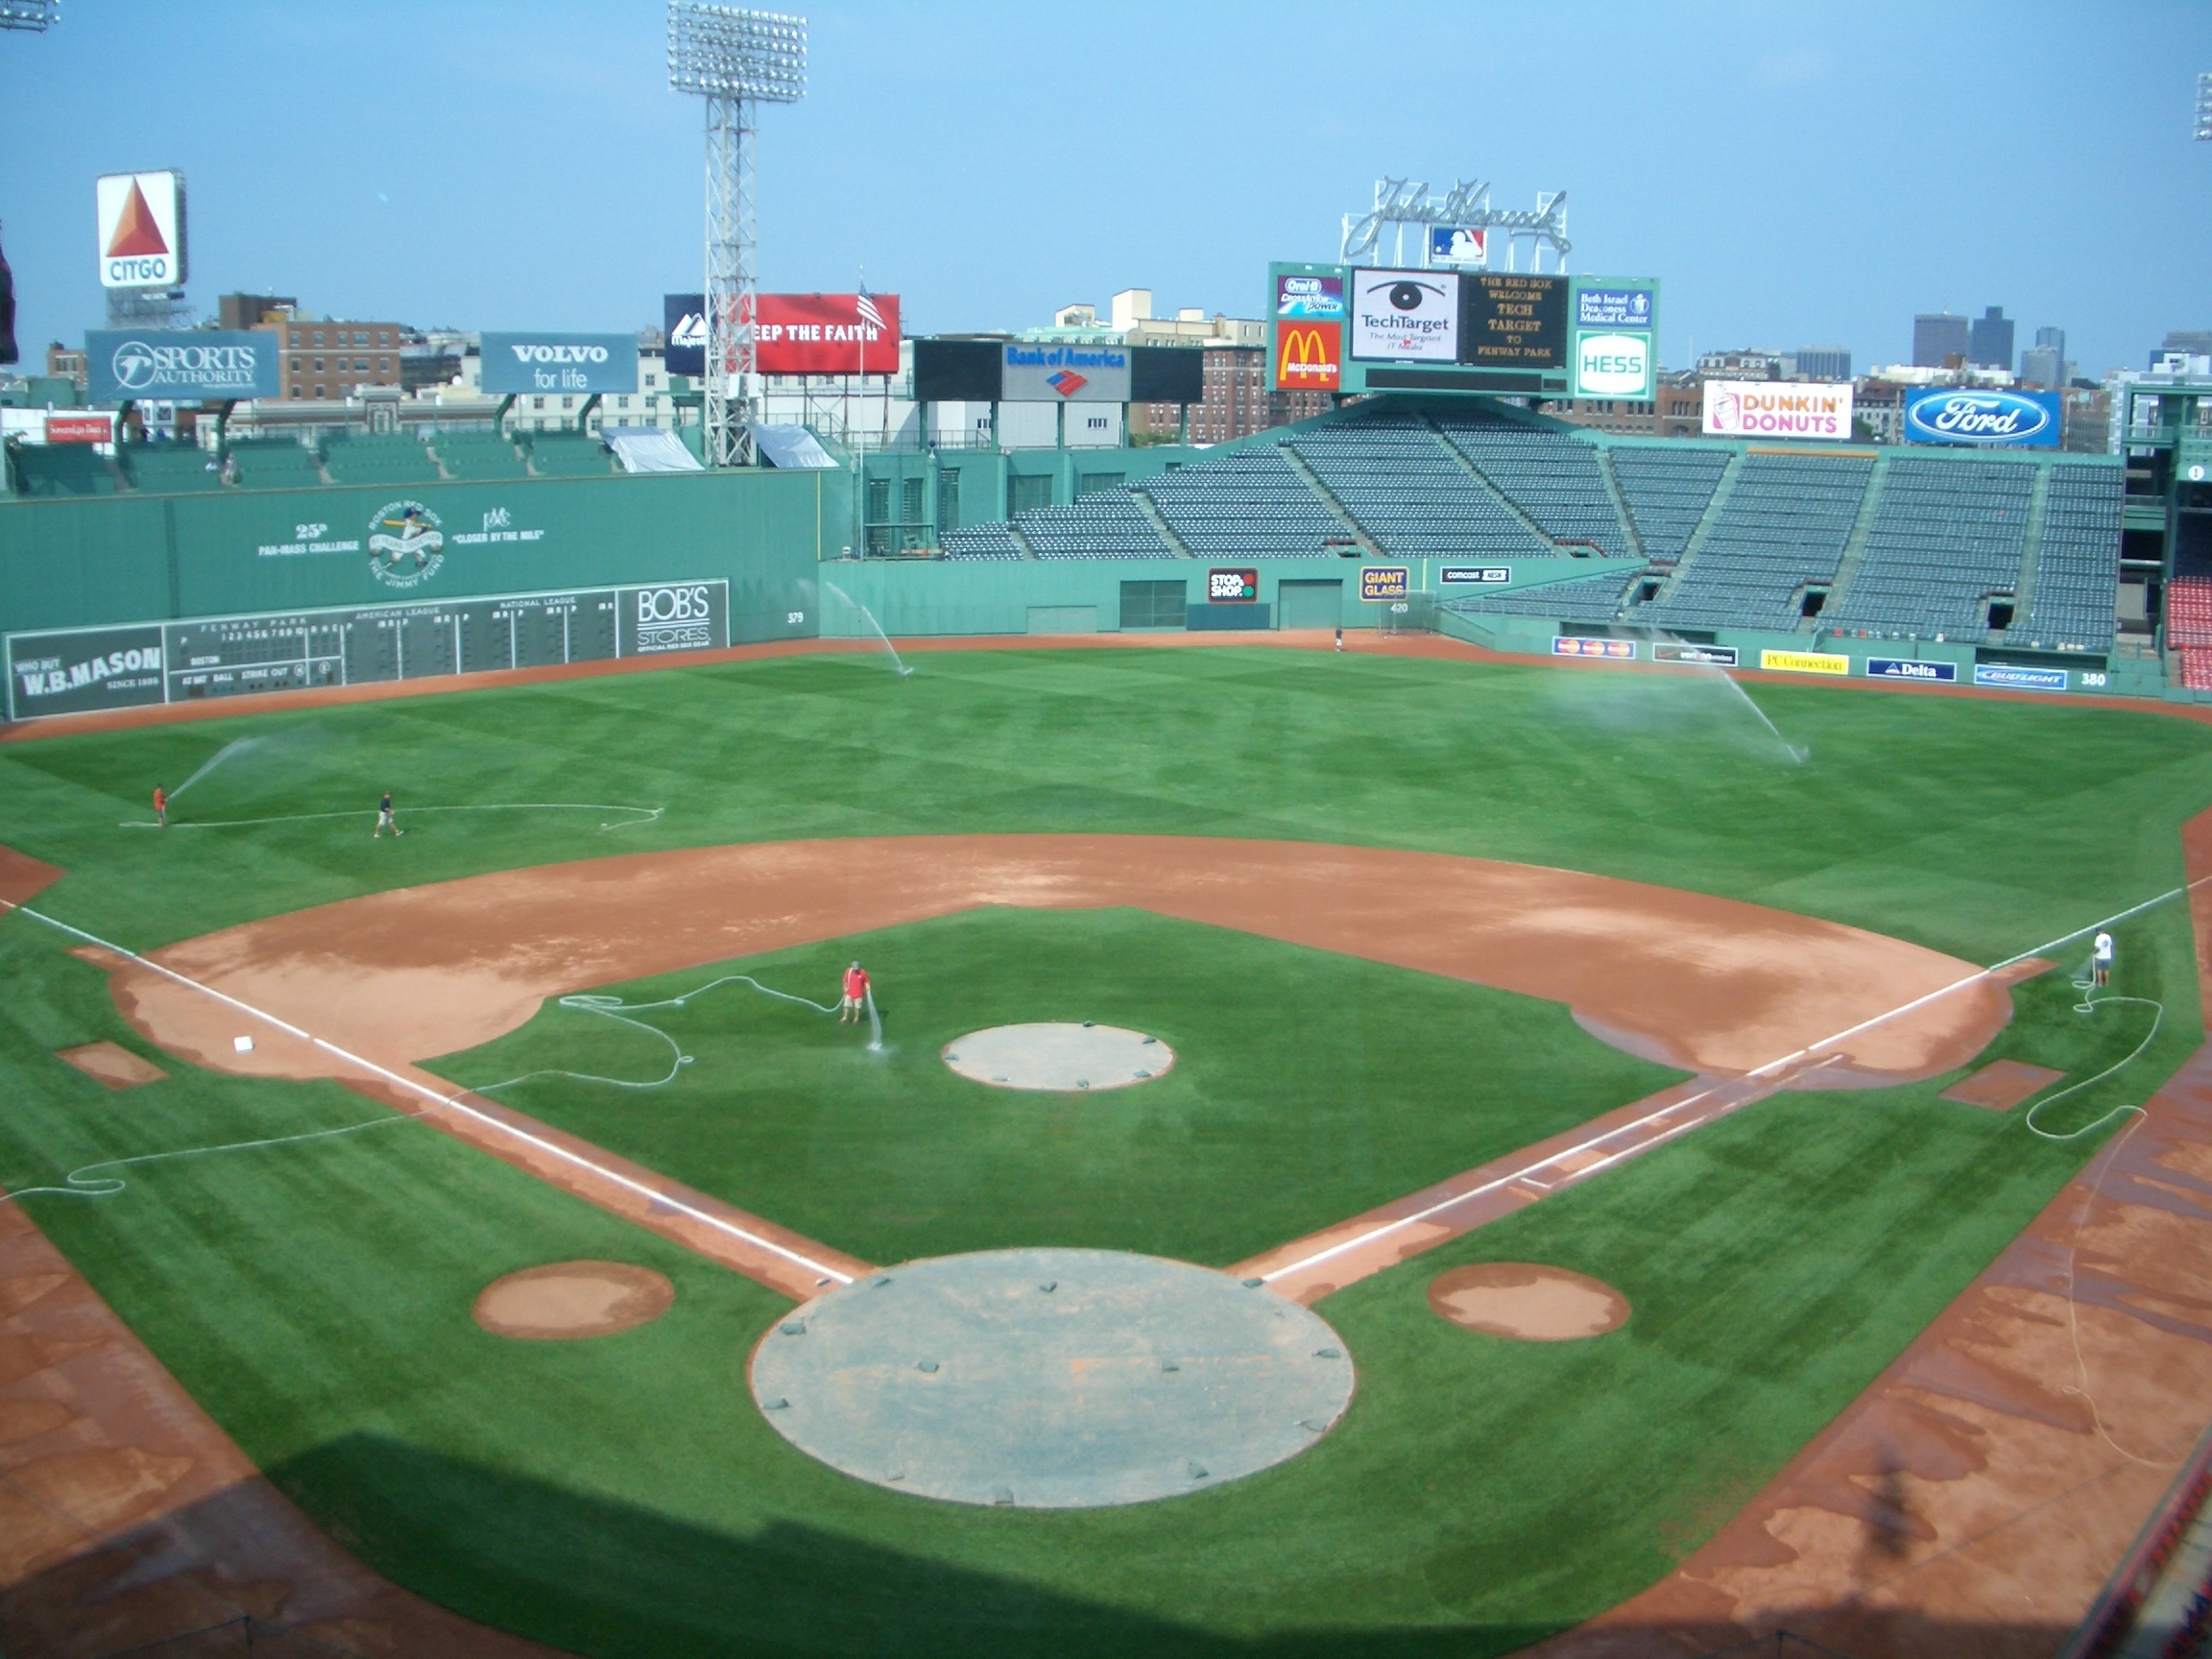
<svg viewBox="0 0 2212 1659"><path fill-rule="evenodd" d="M1210 1267L993 1250L867 1274L779 1321L752 1398L832 1469L956 1504L1175 1498L1314 1444L1352 1402L1329 1325Z"/></svg>

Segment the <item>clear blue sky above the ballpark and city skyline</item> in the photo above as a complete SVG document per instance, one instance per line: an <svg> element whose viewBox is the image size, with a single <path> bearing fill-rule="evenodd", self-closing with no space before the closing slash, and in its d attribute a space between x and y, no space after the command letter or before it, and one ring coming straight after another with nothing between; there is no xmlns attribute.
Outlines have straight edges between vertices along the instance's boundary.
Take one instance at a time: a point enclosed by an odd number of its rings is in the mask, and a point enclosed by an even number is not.
<svg viewBox="0 0 2212 1659"><path fill-rule="evenodd" d="M783 0L803 4L803 0ZM812 4L765 115L761 276L909 332L1146 285L1252 316L1383 175L1568 192L1573 268L1692 338L1902 361L1922 310L2086 374L2212 327L2208 4ZM619 330L699 285L701 115L648 0L64 0L0 33L0 246L31 358L102 316L93 177L184 168L192 303Z"/></svg>

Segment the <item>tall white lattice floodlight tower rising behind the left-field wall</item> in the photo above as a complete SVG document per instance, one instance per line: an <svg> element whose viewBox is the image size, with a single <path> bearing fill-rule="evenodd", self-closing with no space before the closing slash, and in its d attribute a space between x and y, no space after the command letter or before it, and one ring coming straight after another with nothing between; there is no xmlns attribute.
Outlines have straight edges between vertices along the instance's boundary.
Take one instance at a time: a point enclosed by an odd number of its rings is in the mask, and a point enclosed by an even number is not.
<svg viewBox="0 0 2212 1659"><path fill-rule="evenodd" d="M807 95L807 20L668 0L668 88L706 100L706 465L750 467L759 414L752 150Z"/></svg>

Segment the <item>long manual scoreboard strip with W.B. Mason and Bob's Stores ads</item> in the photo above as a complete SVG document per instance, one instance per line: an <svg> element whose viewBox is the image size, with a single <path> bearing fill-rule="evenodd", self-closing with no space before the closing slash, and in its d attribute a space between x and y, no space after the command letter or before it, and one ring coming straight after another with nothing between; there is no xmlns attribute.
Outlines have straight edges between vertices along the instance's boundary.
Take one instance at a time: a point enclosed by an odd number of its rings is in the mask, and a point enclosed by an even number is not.
<svg viewBox="0 0 2212 1659"><path fill-rule="evenodd" d="M730 584L509 593L7 637L9 719L730 644Z"/></svg>

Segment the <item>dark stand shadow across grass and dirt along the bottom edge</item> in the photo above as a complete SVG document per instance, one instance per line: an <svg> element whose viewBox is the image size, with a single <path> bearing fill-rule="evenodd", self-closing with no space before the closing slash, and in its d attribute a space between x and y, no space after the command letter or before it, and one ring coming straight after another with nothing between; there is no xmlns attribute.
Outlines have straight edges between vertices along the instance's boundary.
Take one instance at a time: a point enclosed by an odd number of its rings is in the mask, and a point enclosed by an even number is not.
<svg viewBox="0 0 2212 1659"><path fill-rule="evenodd" d="M1438 1624L1418 1628L1358 1628L1354 1608L1303 1630L1232 1637L1121 1608L1055 1595L1013 1577L995 1577L907 1555L836 1533L770 1522L752 1537L717 1533L591 1493L487 1469L398 1444L380 1436L349 1436L272 1471L294 1500L310 1504L347 1551L363 1564L392 1575L418 1595L467 1619L533 1637L551 1648L608 1659L644 1655L1237 1655L1239 1659L1380 1659L1413 1655L1504 1655L1562 1635L1559 1626L1455 1624L1438 1606ZM807 1482L801 1482L807 1484ZM221 1509L212 1498L204 1509ZM945 1511L911 1504L918 1535L927 1535ZM212 1520L212 1517L210 1517ZM1002 1526L1009 1537L1026 1533L1024 1546L1009 1551L1035 1571L1040 1528L1055 1528L1062 1551L1079 1557L1097 1548L1093 1528L1079 1515L962 1511L971 1526ZM146 1659L199 1659L201 1655L265 1652L383 1655L394 1632L374 1615L367 1621L336 1608L310 1608L303 1597L268 1597L254 1586L237 1597L173 1597L184 1579L195 1590L252 1579L265 1562L217 1566L204 1557L175 1557L175 1540L223 1537L254 1555L219 1520L195 1524L190 1513L137 1528L139 1537L91 1559L0 1590L0 1639L9 1659L66 1655L106 1659L133 1652ZM1088 1535L1086 1535L1088 1533ZM268 1540L261 1540L263 1546ZM1252 1542L1250 1564L1265 1559L1265 1542ZM157 1562L175 1573L164 1584ZM197 1553L195 1553L197 1555ZM131 1557L137 1557L135 1562ZM232 1568L232 1571L226 1571ZM1232 1568L1225 1568L1232 1571ZM46 1584L44 1579L55 1579ZM84 1628L55 1615L58 1593L88 1617ZM1128 1579L1141 1593L1139 1571ZM95 1619L95 1608L119 1610L117 1599L144 1601L148 1615L122 1628ZM389 1593L387 1593L389 1595ZM1385 1590L1387 1595L1387 1590ZM1267 1584L1254 1577L1250 1604L1223 1599L1225 1617L1265 1624ZM230 1604L219 1628L210 1610ZM246 1608L246 1601L254 1601ZM44 1606L40 1606L44 1604ZM246 1617L252 1613L254 1617ZM93 1624L106 1624L122 1641L102 1641ZM429 1621L431 1626L436 1619ZM1871 1608L1834 1608L1792 1621L1794 1632L1754 1637L1723 1619L1686 1619L1655 1626L1597 1626L1551 1646L1562 1659L1630 1659L1641 1655L1712 1652L1840 1652L1847 1659L1902 1655L1989 1655L1991 1659L2042 1659L2066 1637L2064 1628L1944 1626L1896 1617ZM166 1626L166 1628L164 1628ZM64 1635L66 1632L66 1635ZM312 1632L314 1639L307 1639ZM1796 1632L1812 1637L1801 1641ZM465 1628L453 1641L438 1641L429 1628L411 1632L411 1652L429 1659L476 1655ZM431 1637L431 1639L425 1639ZM491 1639L507 1652L511 1644Z"/></svg>

